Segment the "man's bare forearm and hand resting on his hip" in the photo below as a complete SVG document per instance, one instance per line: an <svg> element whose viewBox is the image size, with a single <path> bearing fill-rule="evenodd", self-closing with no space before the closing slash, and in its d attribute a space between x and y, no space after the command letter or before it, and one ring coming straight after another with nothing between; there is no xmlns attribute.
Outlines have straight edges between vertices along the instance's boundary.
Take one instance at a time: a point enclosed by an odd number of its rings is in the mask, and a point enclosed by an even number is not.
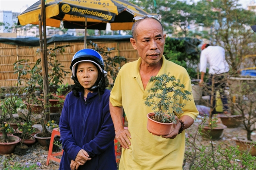
<svg viewBox="0 0 256 170"><path fill-rule="evenodd" d="M114 107L112 103L109 102L109 110L115 127L116 140L119 141L124 149L129 149L129 145L131 145L131 142L129 140L129 138L131 139L131 134L128 129L124 128L124 125L122 123L123 108Z"/></svg>

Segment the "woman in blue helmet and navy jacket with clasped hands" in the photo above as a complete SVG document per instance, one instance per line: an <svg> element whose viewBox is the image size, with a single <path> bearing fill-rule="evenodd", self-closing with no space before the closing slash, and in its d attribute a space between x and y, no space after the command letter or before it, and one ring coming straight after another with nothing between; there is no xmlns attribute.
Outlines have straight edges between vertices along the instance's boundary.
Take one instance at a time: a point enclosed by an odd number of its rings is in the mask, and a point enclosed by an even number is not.
<svg viewBox="0 0 256 170"><path fill-rule="evenodd" d="M64 150L59 170L116 170L115 130L103 68L103 58L93 49L82 49L72 59L75 85L59 122Z"/></svg>

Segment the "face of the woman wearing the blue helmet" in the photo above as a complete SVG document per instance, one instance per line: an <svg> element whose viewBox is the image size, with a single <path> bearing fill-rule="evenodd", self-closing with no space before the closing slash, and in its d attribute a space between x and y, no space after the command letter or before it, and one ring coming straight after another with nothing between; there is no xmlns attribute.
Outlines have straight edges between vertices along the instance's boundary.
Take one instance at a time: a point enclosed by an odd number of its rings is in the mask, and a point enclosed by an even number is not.
<svg viewBox="0 0 256 170"><path fill-rule="evenodd" d="M84 89L91 88L98 78L97 67L92 62L80 62L78 63L76 76L78 82Z"/></svg>

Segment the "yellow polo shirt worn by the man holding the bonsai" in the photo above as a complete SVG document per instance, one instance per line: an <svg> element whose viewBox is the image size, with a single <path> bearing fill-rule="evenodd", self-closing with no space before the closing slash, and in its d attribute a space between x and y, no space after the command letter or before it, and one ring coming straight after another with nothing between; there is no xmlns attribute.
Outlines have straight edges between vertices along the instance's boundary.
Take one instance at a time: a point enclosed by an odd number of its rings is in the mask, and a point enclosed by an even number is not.
<svg viewBox="0 0 256 170"><path fill-rule="evenodd" d="M158 75L170 73L181 80L186 90L192 91L190 77L183 67L167 61L162 56L163 63ZM165 139L154 136L147 131L147 114L152 109L144 102L149 95L148 90L153 82L147 84L144 90L140 78L141 58L125 64L119 71L110 95L113 106L123 106L128 120L128 130L131 133L130 149L123 149L119 170L182 170L185 150L185 131L175 139ZM194 99L191 101L180 99L186 105L183 114L196 118L198 115ZM170 110L171 111L171 110Z"/></svg>

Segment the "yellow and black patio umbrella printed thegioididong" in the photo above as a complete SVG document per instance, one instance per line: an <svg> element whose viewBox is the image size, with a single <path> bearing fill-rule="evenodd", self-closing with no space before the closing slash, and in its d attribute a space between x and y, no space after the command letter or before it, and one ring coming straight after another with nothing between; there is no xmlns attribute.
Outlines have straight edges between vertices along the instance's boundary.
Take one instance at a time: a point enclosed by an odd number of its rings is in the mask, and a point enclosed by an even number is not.
<svg viewBox="0 0 256 170"><path fill-rule="evenodd" d="M63 21L65 28L85 28L105 30L106 23L111 30L131 30L133 18L148 13L125 0L45 0L46 25L59 27ZM34 3L18 16L18 25L38 24L41 1Z"/></svg>

